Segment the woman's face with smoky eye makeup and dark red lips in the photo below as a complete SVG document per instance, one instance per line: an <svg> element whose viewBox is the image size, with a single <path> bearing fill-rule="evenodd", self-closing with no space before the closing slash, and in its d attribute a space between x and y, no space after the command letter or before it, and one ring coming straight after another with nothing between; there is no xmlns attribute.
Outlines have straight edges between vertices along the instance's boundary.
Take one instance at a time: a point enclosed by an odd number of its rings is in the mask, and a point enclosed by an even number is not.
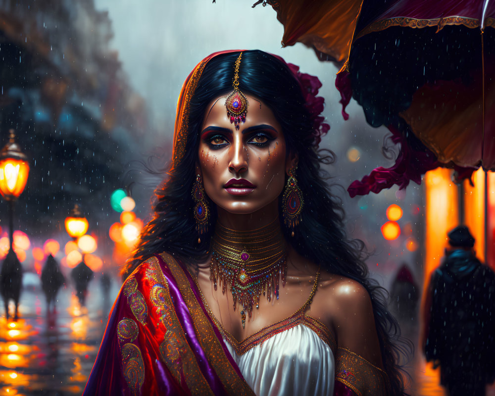
<svg viewBox="0 0 495 396"><path fill-rule="evenodd" d="M246 122L237 130L227 116L226 96L206 107L199 143L199 169L206 195L230 213L277 207L286 172L286 143L280 124L262 101L246 95Z"/></svg>

